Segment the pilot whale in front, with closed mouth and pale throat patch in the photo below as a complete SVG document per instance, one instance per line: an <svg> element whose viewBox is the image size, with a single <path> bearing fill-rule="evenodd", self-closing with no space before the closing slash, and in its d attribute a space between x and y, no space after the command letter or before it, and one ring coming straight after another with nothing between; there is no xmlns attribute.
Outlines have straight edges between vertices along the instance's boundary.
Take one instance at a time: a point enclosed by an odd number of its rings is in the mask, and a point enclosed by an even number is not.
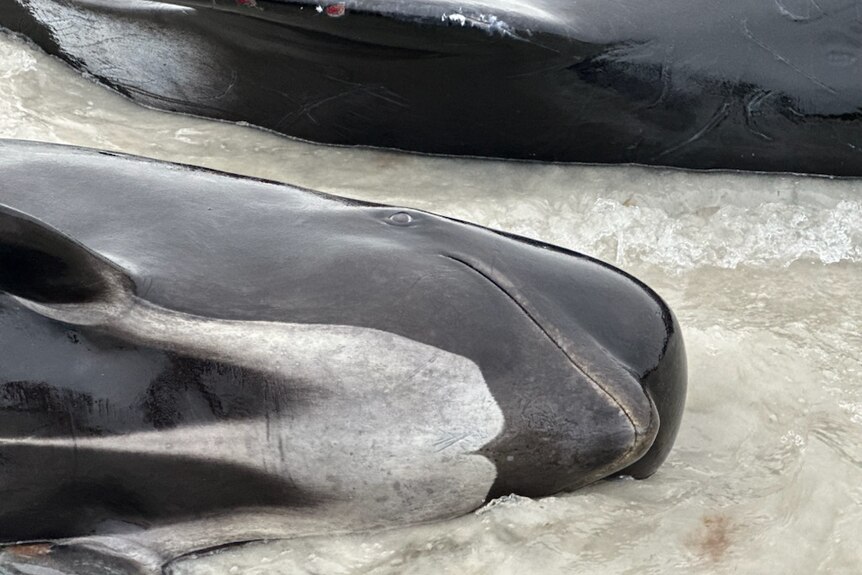
<svg viewBox="0 0 862 575"><path fill-rule="evenodd" d="M161 573L644 478L686 391L671 310L587 256L3 140L0 354L11 573Z"/></svg>

